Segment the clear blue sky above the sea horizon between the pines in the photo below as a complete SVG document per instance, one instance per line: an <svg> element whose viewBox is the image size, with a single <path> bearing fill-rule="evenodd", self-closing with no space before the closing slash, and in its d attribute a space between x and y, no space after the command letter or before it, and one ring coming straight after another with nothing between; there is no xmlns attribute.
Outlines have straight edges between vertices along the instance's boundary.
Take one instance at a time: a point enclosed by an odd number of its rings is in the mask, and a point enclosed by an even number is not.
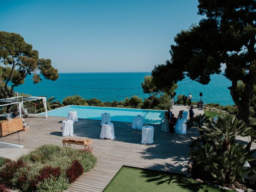
<svg viewBox="0 0 256 192"><path fill-rule="evenodd" d="M198 23L197 0L0 0L0 30L21 34L59 72L142 72Z"/></svg>

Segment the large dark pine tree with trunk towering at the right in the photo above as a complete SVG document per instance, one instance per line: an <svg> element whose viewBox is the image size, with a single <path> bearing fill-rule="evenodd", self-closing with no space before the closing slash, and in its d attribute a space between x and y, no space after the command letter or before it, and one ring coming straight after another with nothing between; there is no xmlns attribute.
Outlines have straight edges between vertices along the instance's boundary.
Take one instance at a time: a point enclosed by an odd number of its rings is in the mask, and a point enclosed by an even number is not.
<svg viewBox="0 0 256 192"><path fill-rule="evenodd" d="M199 24L178 33L171 45L171 59L155 66L152 76L157 86L169 86L186 76L202 84L210 75L231 80L229 87L238 107L238 118L248 122L249 106L256 83L256 1L199 0ZM238 81L244 82L242 95ZM216 90L217 91L217 90Z"/></svg>

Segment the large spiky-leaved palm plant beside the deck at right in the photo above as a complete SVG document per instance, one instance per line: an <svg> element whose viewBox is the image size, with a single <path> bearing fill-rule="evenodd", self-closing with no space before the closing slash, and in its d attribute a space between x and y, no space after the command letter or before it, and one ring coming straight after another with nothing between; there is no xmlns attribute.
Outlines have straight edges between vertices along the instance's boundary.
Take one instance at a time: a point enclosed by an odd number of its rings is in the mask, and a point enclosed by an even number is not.
<svg viewBox="0 0 256 192"><path fill-rule="evenodd" d="M236 138L254 138L255 131L251 127L235 116L225 114L218 116L216 122L210 120L206 123L204 133L190 144L190 156L200 172L221 184L242 179L243 175L250 172L243 166L246 161L253 160L252 153L255 150L239 144Z"/></svg>

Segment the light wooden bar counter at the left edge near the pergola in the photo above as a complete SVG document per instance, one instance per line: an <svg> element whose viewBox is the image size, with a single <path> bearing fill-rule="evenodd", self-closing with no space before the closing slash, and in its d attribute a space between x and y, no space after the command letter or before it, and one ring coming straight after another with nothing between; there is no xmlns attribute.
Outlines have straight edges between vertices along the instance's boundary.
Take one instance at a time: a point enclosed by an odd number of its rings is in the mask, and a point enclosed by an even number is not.
<svg viewBox="0 0 256 192"><path fill-rule="evenodd" d="M12 121L2 121L0 123L0 134L6 136L11 132L17 132L23 130L22 118L14 118Z"/></svg>

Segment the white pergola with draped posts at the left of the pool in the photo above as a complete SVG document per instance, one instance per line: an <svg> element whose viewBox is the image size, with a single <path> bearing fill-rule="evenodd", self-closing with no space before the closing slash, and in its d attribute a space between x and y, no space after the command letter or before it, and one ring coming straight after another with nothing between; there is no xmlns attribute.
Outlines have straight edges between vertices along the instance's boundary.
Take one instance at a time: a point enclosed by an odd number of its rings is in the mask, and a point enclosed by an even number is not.
<svg viewBox="0 0 256 192"><path fill-rule="evenodd" d="M11 97L11 98L5 98L5 99L0 99L0 102L6 103L2 104L1 106L7 106L7 105L13 105L13 104L18 104L19 106L19 116L21 118L21 111L23 110L23 103L24 102L29 102L29 101L34 101L34 100L43 100L44 103L44 109L45 109L45 118L47 118L47 105L46 105L46 97L34 97L34 96L17 96L17 97Z"/></svg>

